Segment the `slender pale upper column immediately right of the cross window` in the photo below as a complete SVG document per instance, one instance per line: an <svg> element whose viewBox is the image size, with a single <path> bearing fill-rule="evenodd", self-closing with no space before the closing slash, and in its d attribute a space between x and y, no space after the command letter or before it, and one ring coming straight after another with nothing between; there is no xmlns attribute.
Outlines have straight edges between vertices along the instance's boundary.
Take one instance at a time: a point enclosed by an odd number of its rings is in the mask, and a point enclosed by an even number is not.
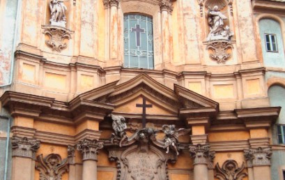
<svg viewBox="0 0 285 180"><path fill-rule="evenodd" d="M163 63L171 62L171 38L169 31L169 15L173 10L171 0L161 0L160 2L161 10L161 24L162 24L162 61Z"/></svg>

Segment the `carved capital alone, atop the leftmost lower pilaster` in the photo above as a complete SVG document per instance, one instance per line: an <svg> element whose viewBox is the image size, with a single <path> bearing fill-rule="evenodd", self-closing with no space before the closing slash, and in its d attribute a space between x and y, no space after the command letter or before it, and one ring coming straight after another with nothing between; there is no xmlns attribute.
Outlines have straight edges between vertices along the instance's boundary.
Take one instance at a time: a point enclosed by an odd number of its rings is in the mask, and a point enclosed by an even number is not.
<svg viewBox="0 0 285 180"><path fill-rule="evenodd" d="M35 158L36 151L40 148L40 141L28 139L27 137L12 137L12 156L20 156L25 158Z"/></svg>

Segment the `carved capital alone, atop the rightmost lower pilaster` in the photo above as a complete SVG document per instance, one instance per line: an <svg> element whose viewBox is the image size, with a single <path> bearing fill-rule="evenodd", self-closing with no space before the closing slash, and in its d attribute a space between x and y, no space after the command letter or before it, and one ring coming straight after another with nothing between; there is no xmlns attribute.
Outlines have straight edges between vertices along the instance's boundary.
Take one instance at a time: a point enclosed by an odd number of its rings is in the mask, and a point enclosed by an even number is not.
<svg viewBox="0 0 285 180"><path fill-rule="evenodd" d="M247 160L247 167L270 165L271 155L271 148L259 147L258 149L245 150L245 159Z"/></svg>

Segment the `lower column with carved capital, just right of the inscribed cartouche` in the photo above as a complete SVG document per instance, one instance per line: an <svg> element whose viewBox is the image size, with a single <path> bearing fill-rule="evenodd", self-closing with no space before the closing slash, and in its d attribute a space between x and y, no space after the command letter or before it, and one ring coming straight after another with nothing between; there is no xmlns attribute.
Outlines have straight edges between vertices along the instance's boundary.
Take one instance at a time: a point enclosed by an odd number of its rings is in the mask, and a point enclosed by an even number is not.
<svg viewBox="0 0 285 180"><path fill-rule="evenodd" d="M194 180L208 180L208 165L213 166L215 152L208 144L190 146L190 156L194 159Z"/></svg>

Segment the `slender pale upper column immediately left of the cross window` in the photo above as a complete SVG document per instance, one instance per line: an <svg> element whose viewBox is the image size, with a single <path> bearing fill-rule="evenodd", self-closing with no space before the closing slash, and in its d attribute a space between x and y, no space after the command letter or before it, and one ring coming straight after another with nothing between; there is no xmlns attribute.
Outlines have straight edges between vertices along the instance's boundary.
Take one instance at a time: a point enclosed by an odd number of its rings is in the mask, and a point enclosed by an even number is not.
<svg viewBox="0 0 285 180"><path fill-rule="evenodd" d="M110 59L118 59L118 0L109 0L110 6Z"/></svg>

